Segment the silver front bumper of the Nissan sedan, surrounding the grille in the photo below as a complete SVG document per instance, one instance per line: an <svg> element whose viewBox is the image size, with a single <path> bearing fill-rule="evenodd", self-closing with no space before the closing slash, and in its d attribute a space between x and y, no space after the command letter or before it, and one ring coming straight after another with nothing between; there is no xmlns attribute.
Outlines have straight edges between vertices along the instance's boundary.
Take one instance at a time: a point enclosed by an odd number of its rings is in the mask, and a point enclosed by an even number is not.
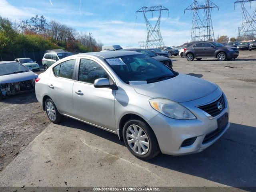
<svg viewBox="0 0 256 192"><path fill-rule="evenodd" d="M161 152L164 154L177 156L192 154L201 152L216 142L226 132L226 130L228 130L230 126L229 122L218 134L218 136L203 144L205 136L218 128L218 118L225 113L229 113L226 97L224 96L226 107L218 116L211 120L202 112L202 110L195 106L198 106L207 100L214 100L220 97L221 94L222 92L220 89L218 89L213 94L210 94L210 96L206 96L191 102L182 103L196 115L197 119L176 120L168 118L162 114L158 114L148 120L148 124L156 134ZM185 140L194 137L196 137L194 143L192 143L190 146L181 147Z"/></svg>

